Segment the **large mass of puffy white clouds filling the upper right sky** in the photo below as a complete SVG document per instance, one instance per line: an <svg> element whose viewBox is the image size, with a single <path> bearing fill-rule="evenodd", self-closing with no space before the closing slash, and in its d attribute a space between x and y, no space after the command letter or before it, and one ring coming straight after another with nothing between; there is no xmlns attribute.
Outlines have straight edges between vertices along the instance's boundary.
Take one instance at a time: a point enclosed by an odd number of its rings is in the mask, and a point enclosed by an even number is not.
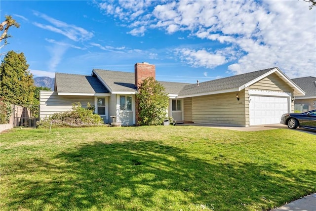
<svg viewBox="0 0 316 211"><path fill-rule="evenodd" d="M315 11L304 1L122 0L99 6L125 22L133 36L150 29L187 31L214 43L216 48L207 50L176 49L191 66L215 68L229 61L234 74L278 66L291 78L316 76Z"/></svg>

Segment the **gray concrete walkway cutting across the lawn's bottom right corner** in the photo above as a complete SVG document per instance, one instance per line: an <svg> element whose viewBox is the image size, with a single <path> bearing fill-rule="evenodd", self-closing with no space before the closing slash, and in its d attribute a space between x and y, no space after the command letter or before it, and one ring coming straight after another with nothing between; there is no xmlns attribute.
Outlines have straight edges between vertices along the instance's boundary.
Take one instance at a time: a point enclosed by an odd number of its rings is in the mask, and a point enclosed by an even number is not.
<svg viewBox="0 0 316 211"><path fill-rule="evenodd" d="M271 211L316 211L316 193Z"/></svg>

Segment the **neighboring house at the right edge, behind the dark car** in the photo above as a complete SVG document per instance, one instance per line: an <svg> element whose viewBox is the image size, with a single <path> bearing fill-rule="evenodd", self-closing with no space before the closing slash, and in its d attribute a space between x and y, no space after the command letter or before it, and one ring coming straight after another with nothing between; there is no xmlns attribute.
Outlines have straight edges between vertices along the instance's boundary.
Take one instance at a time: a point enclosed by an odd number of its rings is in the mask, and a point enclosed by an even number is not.
<svg viewBox="0 0 316 211"><path fill-rule="evenodd" d="M303 77L292 79L292 81L305 91L305 96L295 97L295 110L306 112L316 109L316 78Z"/></svg>

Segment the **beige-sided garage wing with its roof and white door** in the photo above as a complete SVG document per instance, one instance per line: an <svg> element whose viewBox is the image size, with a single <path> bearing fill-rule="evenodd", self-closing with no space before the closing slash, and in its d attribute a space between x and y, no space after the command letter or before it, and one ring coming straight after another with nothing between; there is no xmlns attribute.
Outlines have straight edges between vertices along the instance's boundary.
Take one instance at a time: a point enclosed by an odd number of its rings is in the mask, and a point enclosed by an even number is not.
<svg viewBox="0 0 316 211"><path fill-rule="evenodd" d="M187 85L178 97L192 101L184 121L218 126L248 127L279 124L294 111L294 95L304 91L278 68ZM191 109L190 115L188 110Z"/></svg>

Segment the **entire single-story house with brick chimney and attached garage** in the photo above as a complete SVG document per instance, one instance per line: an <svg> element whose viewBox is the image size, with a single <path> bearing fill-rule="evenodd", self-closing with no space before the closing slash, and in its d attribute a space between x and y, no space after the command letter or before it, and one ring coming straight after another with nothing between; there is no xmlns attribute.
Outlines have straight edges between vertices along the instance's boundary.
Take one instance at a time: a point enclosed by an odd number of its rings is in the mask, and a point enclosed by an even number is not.
<svg viewBox="0 0 316 211"><path fill-rule="evenodd" d="M55 90L40 92L40 118L72 108L72 103L95 106L105 123L111 116L122 125L135 125L137 85L155 78L155 65L136 63L135 72L93 69L91 76L55 74ZM159 82L169 96L168 116L176 121L248 127L278 124L294 111L293 96L304 91L277 67L213 81L185 84Z"/></svg>

